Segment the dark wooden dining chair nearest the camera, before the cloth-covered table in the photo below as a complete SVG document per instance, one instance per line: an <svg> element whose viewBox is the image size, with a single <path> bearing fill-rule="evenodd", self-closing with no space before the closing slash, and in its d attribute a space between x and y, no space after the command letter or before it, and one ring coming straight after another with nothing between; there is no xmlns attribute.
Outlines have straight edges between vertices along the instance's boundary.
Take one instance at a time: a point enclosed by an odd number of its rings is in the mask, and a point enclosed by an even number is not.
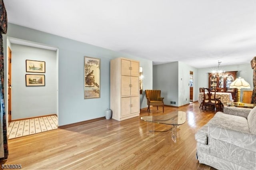
<svg viewBox="0 0 256 170"><path fill-rule="evenodd" d="M218 98L216 98L216 89L204 88L204 99L202 102L202 109L206 110L207 106L212 106L214 107L214 111L216 112L218 103L219 100Z"/></svg>

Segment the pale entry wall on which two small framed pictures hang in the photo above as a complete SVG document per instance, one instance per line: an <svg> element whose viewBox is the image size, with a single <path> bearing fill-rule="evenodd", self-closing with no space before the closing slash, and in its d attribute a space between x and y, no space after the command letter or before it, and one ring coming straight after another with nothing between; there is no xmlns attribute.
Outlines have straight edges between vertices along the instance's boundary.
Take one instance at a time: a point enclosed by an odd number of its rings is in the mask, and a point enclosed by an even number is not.
<svg viewBox="0 0 256 170"><path fill-rule="evenodd" d="M57 114L56 51L12 44L12 120ZM45 73L26 72L26 59L45 61ZM45 75L45 86L26 87L25 74Z"/></svg>

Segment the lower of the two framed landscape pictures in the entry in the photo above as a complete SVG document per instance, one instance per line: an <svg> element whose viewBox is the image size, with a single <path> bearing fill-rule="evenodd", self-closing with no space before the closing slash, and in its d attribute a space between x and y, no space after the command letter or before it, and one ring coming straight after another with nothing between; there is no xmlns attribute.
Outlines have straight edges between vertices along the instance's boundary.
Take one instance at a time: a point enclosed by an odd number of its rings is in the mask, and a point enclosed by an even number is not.
<svg viewBox="0 0 256 170"><path fill-rule="evenodd" d="M26 74L26 86L45 86L45 77L40 74Z"/></svg>

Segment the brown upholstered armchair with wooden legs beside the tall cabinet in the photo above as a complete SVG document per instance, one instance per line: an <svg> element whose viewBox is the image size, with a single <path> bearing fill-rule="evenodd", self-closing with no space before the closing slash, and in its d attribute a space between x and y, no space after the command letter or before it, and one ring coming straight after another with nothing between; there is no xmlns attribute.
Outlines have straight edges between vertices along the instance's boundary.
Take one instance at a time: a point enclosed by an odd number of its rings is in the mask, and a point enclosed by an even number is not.
<svg viewBox="0 0 256 170"><path fill-rule="evenodd" d="M160 97L161 90L145 90L145 93L148 104L148 111L150 112L150 106L156 106L157 110L158 106L162 106L164 113L164 97Z"/></svg>

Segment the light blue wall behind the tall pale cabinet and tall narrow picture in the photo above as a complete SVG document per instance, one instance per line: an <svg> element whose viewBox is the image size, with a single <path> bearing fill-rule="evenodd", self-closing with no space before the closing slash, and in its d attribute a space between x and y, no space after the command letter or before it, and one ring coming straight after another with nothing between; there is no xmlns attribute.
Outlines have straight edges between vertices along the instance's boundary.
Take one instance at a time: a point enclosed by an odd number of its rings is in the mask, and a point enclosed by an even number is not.
<svg viewBox="0 0 256 170"><path fill-rule="evenodd" d="M143 88L152 89L152 61L147 59L8 23L7 34L3 36L5 61L6 36L58 48L58 121L60 126L105 116L105 110L110 107L110 59L126 57L140 61L140 67L143 67L145 75ZM100 98L84 99L84 55L101 59ZM5 85L7 85L6 80ZM143 95L141 99L144 99ZM140 107L146 107L145 100L142 100Z"/></svg>

